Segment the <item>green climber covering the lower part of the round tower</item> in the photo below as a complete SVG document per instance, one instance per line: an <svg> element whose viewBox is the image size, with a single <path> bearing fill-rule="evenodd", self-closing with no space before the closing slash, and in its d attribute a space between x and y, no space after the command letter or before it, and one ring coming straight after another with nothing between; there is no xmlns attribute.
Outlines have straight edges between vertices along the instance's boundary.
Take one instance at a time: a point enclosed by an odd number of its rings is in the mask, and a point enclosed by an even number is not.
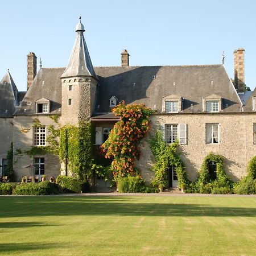
<svg viewBox="0 0 256 256"><path fill-rule="evenodd" d="M88 181L93 171L91 134L90 123L60 128L60 160L65 163L66 175L71 171L81 181Z"/></svg>

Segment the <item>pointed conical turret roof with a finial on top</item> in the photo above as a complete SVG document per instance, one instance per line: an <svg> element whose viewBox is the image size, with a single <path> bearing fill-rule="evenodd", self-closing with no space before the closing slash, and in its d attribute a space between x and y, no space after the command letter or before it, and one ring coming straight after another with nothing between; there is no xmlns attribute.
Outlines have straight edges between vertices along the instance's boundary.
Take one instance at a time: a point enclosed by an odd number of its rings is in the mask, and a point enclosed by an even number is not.
<svg viewBox="0 0 256 256"><path fill-rule="evenodd" d="M61 75L61 78L71 76L92 76L95 79L98 79L94 72L92 61L90 60L90 55L84 39L84 31L84 25L81 23L80 17L79 23L76 25L77 36L75 44L71 56L69 57L67 68Z"/></svg>

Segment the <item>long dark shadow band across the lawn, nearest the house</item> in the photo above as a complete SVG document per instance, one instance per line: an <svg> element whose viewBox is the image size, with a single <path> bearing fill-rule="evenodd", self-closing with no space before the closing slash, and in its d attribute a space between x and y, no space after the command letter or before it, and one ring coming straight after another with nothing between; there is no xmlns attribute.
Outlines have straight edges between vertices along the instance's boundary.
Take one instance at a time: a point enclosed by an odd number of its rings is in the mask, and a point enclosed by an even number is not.
<svg viewBox="0 0 256 256"><path fill-rule="evenodd" d="M138 201L138 200L137 200ZM242 216L255 208L209 204L138 203L129 197L2 197L1 216Z"/></svg>

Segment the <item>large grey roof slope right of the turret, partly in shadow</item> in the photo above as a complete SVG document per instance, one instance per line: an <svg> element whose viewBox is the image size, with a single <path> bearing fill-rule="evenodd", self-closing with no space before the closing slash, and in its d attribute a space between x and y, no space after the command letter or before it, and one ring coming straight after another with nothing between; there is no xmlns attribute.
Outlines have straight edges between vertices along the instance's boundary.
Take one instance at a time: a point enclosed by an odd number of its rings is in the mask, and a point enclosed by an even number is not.
<svg viewBox="0 0 256 256"><path fill-rule="evenodd" d="M241 101L223 65L98 67L100 86L95 112L109 112L109 99L143 103L162 112L162 97L183 97L183 113L202 112L203 97L222 97L223 112L240 112ZM155 76L155 77L154 77ZM98 107L99 106L99 107Z"/></svg>

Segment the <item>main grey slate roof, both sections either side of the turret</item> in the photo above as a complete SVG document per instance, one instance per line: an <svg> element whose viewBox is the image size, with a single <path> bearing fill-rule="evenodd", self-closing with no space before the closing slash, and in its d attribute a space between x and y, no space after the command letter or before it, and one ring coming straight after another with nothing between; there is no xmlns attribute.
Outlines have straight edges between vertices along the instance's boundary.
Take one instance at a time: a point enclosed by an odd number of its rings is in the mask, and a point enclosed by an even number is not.
<svg viewBox="0 0 256 256"><path fill-rule="evenodd" d="M35 101L51 101L50 113L60 114L61 80L65 68L43 68L36 75L15 114L35 114ZM126 104L143 103L162 112L162 98L183 97L182 113L201 113L203 97L222 97L222 112L241 112L241 101L223 65L95 67L99 79L93 118L113 118L109 99ZM24 112L26 109L26 112Z"/></svg>

